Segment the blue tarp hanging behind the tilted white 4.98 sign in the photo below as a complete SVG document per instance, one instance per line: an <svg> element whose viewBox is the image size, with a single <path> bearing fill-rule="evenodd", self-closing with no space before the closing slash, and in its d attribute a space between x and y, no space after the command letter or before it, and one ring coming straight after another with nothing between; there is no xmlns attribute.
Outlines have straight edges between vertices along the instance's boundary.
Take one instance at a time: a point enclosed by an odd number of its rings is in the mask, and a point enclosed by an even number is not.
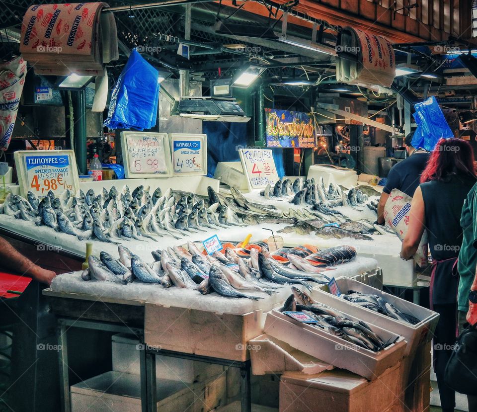
<svg viewBox="0 0 477 412"><path fill-rule="evenodd" d="M207 176L214 177L219 162L239 162L239 149L247 145L247 125L230 122L202 122L207 135ZM283 149L272 149L273 159L280 177L285 175Z"/></svg>

